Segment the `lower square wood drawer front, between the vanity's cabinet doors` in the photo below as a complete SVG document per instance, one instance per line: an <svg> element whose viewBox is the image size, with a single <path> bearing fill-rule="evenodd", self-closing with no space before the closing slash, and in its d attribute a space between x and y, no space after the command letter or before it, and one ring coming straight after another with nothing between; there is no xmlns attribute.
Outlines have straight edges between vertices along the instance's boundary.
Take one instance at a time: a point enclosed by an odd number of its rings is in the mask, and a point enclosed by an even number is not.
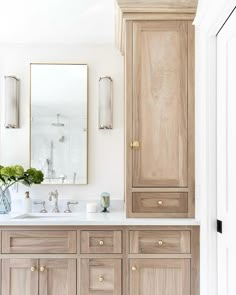
<svg viewBox="0 0 236 295"><path fill-rule="evenodd" d="M81 259L83 295L121 295L121 259Z"/></svg>

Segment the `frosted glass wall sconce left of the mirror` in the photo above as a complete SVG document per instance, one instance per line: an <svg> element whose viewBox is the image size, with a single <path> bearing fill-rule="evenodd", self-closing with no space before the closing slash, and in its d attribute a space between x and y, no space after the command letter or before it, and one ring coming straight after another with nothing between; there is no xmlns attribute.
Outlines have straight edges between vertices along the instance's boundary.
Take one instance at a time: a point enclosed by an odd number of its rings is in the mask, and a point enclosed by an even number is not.
<svg viewBox="0 0 236 295"><path fill-rule="evenodd" d="M5 128L19 127L19 79L5 78Z"/></svg>

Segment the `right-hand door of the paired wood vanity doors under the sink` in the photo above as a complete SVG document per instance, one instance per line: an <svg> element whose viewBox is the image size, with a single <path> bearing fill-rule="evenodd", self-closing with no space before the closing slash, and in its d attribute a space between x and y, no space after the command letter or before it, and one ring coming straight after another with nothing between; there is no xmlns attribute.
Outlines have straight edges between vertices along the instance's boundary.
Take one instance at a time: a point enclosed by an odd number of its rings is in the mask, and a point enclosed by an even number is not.
<svg viewBox="0 0 236 295"><path fill-rule="evenodd" d="M39 295L76 295L76 259L40 259L39 273Z"/></svg>

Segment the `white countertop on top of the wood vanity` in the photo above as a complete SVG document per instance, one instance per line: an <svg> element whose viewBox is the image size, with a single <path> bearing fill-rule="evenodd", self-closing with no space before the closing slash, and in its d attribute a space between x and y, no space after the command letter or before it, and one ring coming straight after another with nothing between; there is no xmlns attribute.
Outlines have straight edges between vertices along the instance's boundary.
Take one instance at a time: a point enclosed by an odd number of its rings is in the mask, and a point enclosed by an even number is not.
<svg viewBox="0 0 236 295"><path fill-rule="evenodd" d="M124 211L112 213L12 213L0 215L0 226L101 226L101 225L200 225L193 218L126 218Z"/></svg>

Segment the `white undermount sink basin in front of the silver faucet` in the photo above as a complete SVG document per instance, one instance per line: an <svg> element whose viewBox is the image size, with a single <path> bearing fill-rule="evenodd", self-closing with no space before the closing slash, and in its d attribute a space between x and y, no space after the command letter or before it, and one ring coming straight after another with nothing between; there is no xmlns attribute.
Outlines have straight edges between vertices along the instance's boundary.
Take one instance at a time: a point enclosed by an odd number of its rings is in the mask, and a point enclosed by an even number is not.
<svg viewBox="0 0 236 295"><path fill-rule="evenodd" d="M12 217L12 219L74 219L78 213L25 213Z"/></svg>

